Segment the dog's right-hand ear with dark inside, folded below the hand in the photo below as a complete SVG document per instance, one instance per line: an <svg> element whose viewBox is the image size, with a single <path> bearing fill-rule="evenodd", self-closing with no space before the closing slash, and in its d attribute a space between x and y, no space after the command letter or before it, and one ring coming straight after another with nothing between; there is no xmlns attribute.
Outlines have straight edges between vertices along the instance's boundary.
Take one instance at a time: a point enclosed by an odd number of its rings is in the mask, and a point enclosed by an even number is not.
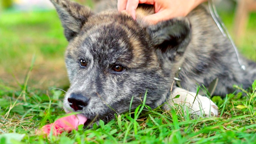
<svg viewBox="0 0 256 144"><path fill-rule="evenodd" d="M152 45L170 60L184 54L190 42L191 24L187 18L174 18L147 27Z"/></svg>

